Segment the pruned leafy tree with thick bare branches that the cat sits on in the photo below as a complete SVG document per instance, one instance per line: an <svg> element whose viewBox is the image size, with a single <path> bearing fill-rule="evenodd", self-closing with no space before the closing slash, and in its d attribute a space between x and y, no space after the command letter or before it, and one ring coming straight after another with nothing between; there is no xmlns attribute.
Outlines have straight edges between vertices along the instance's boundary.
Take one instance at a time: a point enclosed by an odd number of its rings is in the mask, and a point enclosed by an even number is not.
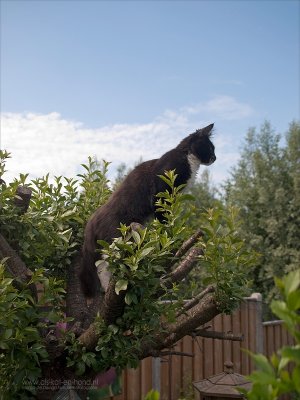
<svg viewBox="0 0 300 400"><path fill-rule="evenodd" d="M2 176L9 154L0 156ZM174 171L161 177L169 186L156 202L163 224L121 225L119 238L101 242L112 279L107 292L87 305L77 278L83 227L110 189L107 163L99 170L89 159L83 168L76 179L56 177L53 183L49 176L27 182L22 174L10 184L2 181L4 399L52 398L64 380L85 398L84 382L93 382L99 371L134 367L172 351L185 335L232 337L199 327L237 305L251 254L238 237L233 211L224 217L210 210L201 230L191 231L184 208L190 196L174 186ZM185 278L199 264L203 281L189 286Z"/></svg>

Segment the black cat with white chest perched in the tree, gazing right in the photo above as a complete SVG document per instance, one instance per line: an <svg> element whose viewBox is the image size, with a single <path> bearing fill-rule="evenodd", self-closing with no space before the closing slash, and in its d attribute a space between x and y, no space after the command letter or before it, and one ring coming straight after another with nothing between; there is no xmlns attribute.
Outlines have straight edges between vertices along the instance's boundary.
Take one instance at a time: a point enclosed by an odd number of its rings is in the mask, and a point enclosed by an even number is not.
<svg viewBox="0 0 300 400"><path fill-rule="evenodd" d="M101 258L96 252L97 240L111 242L119 236L120 223L143 224L155 213L155 195L167 189L158 175L165 171L176 170L176 185L189 183L200 164L210 165L216 160L214 145L210 141L213 124L199 129L183 139L177 147L162 157L143 162L124 179L108 202L98 208L85 228L82 249L80 281L84 294L94 297L99 285L95 263Z"/></svg>

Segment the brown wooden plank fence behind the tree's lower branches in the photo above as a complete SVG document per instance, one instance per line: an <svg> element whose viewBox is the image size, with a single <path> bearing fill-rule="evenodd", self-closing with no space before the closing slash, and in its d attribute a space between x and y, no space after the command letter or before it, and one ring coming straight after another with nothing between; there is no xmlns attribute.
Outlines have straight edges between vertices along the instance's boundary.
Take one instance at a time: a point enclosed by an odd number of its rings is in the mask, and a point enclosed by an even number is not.
<svg viewBox="0 0 300 400"><path fill-rule="evenodd" d="M244 334L243 342L191 338L186 336L174 348L190 353L192 357L167 356L147 358L140 366L123 372L122 394L113 400L142 400L149 390L160 392L161 400L178 400L180 397L200 399L192 382L223 372L224 362L232 361L234 372L249 374L254 364L242 351L264 353L270 356L276 349L292 343L281 321L262 322L262 301L259 294L246 298L240 309L232 315L218 315L211 329ZM195 397L193 397L195 396Z"/></svg>

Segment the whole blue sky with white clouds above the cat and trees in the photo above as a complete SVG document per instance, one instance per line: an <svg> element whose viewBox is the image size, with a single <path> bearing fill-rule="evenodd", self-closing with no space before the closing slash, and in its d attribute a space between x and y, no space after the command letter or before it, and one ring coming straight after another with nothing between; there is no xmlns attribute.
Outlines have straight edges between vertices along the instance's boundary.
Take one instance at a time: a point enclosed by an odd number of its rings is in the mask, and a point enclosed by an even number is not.
<svg viewBox="0 0 300 400"><path fill-rule="evenodd" d="M215 122L218 184L247 129L299 119L299 1L1 0L8 177L132 165Z"/></svg>

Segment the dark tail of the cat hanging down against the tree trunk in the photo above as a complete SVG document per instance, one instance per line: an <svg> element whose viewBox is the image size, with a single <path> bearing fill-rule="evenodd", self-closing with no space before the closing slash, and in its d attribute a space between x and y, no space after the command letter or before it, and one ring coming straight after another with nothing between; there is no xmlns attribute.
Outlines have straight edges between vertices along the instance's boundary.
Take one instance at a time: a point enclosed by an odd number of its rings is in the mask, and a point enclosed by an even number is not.
<svg viewBox="0 0 300 400"><path fill-rule="evenodd" d="M82 292L88 298L95 297L100 288L95 262L95 253L83 247L79 279Z"/></svg>

